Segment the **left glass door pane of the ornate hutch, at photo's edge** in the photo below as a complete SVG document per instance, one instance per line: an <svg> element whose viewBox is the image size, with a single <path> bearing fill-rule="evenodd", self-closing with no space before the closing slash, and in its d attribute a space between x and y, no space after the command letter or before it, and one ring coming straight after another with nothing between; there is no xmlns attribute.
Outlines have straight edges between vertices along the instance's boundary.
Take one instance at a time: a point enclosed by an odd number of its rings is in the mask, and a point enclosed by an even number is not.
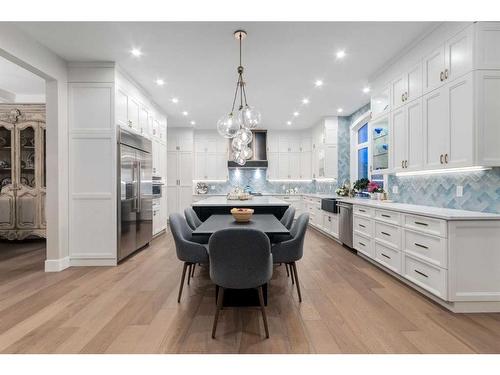
<svg viewBox="0 0 500 375"><path fill-rule="evenodd" d="M14 147L13 126L0 124L0 228L13 228L14 211Z"/></svg>

